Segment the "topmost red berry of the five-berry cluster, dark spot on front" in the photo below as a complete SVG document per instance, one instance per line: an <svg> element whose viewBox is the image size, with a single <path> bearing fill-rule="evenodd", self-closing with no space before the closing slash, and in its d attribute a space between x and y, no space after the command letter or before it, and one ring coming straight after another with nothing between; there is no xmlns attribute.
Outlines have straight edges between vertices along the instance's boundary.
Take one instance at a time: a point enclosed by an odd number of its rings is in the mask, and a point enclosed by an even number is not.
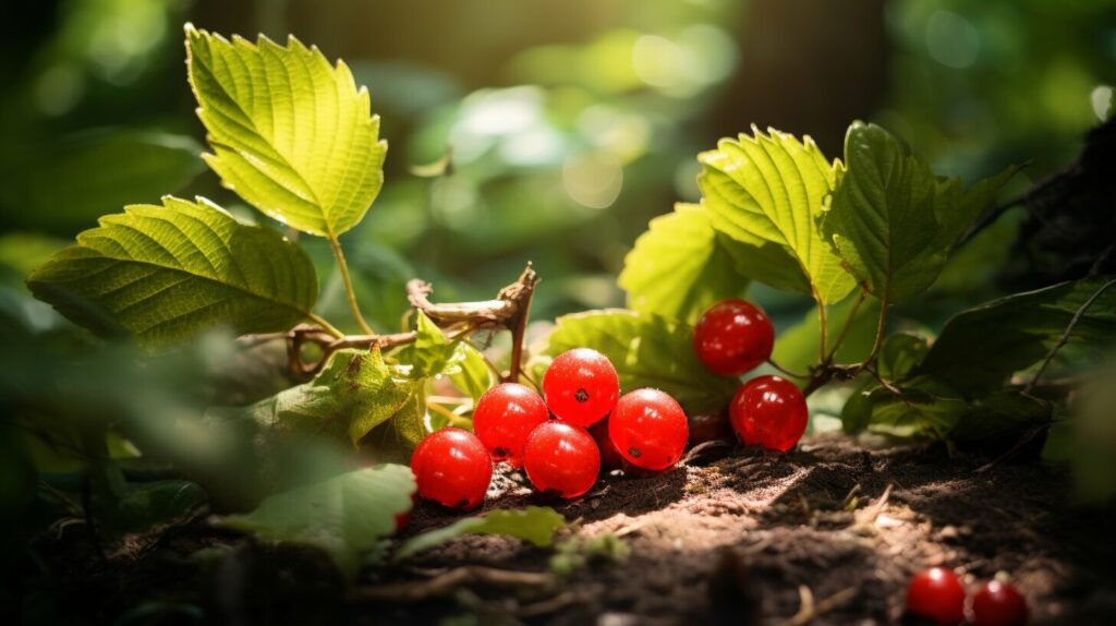
<svg viewBox="0 0 1116 626"><path fill-rule="evenodd" d="M620 382L608 357L575 348L550 364L542 376L542 395L559 420L588 428L616 406Z"/></svg>

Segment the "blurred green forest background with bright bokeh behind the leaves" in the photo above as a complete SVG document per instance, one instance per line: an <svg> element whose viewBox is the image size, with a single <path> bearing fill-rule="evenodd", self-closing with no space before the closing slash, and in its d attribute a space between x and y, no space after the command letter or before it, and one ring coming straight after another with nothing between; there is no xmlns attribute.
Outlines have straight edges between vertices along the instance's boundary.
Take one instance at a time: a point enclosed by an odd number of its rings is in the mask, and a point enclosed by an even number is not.
<svg viewBox="0 0 1116 626"><path fill-rule="evenodd" d="M699 151L753 123L836 157L852 119L875 121L968 180L1031 161L1010 194L1072 160L1116 84L1110 0L45 0L9 12L0 276L3 301L23 308L27 271L124 204L200 194L264 219L196 157L185 21L294 33L368 87L386 184L344 243L378 330L398 327L408 278L441 300L487 298L527 260L545 280L536 319L622 305L614 278L635 237L696 199ZM452 175L415 175L451 148ZM1018 221L968 248L939 292L995 295ZM328 250L306 239L321 312L344 325ZM780 325L806 309L753 296Z"/></svg>

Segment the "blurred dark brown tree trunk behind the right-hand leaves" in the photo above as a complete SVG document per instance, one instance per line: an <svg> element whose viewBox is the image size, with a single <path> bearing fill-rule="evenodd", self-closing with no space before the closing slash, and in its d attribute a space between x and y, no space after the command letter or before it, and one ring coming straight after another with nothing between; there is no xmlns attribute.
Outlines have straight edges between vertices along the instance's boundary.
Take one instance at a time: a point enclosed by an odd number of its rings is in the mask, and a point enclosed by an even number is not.
<svg viewBox="0 0 1116 626"><path fill-rule="evenodd" d="M732 31L741 64L708 131L775 126L810 135L831 158L845 128L879 105L887 83L885 0L752 0ZM709 142L706 142L709 143Z"/></svg>

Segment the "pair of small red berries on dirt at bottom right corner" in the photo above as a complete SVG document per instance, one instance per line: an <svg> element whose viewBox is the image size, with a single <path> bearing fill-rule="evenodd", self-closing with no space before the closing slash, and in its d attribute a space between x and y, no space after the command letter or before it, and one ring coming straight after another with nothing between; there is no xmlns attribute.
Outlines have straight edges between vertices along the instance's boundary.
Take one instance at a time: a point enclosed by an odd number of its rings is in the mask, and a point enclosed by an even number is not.
<svg viewBox="0 0 1116 626"><path fill-rule="evenodd" d="M920 571L907 585L907 613L935 624L973 626L1022 626L1027 624L1027 600L1010 582L989 580L969 598L952 569L933 567Z"/></svg>

